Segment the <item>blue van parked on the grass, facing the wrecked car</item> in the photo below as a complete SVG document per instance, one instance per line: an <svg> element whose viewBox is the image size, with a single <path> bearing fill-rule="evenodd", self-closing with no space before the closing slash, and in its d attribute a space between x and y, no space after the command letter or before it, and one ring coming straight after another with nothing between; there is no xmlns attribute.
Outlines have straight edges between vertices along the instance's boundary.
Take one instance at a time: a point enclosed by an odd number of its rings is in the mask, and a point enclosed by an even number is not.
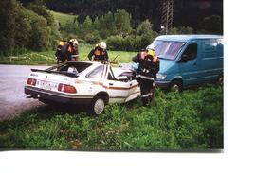
<svg viewBox="0 0 256 173"><path fill-rule="evenodd" d="M160 60L156 86L171 91L223 84L223 36L162 35L152 43Z"/></svg>

